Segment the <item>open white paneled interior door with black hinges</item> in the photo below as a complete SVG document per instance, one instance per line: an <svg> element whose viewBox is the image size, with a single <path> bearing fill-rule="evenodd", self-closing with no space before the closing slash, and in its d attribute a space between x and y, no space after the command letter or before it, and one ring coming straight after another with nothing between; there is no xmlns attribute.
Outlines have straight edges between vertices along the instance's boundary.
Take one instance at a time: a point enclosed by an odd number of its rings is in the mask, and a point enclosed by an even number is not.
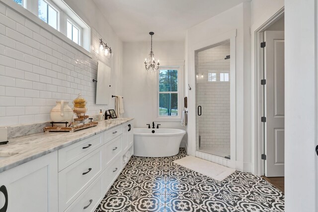
<svg viewBox="0 0 318 212"><path fill-rule="evenodd" d="M265 176L284 176L284 31L265 31Z"/></svg>

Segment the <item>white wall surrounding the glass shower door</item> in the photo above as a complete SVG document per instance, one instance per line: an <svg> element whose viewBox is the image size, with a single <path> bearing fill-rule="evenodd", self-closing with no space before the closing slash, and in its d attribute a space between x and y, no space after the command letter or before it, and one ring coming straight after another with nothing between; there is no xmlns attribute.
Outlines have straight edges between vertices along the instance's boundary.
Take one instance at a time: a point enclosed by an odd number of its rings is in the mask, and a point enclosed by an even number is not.
<svg viewBox="0 0 318 212"><path fill-rule="evenodd" d="M210 18L187 31L187 58L186 78L192 90L189 96L189 124L188 144L189 153L195 150L195 74L194 65L191 67L189 56L191 48L199 42L221 36L224 33L237 29L236 37L236 168L241 171L250 171L251 139L250 139L250 82L248 79L250 67L250 3L244 2L213 18ZM212 45L213 43L211 43ZM245 82L246 78L246 82ZM187 85L187 83L186 83ZM244 127L246 126L245 130ZM248 133L247 133L248 132Z"/></svg>

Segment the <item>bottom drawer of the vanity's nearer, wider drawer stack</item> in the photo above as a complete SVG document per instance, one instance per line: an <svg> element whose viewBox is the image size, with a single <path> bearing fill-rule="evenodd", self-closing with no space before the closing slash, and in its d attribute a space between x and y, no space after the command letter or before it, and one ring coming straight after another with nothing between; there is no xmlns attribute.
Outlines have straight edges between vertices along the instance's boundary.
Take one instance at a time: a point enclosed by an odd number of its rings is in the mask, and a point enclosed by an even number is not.
<svg viewBox="0 0 318 212"><path fill-rule="evenodd" d="M98 177L65 212L94 211L105 195L102 190L102 179Z"/></svg>

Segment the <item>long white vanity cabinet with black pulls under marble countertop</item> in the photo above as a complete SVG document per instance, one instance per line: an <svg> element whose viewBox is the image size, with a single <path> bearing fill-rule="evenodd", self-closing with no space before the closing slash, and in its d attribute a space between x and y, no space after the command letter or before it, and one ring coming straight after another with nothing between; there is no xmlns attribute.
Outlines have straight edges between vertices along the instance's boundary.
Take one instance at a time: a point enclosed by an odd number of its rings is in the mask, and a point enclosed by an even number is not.
<svg viewBox="0 0 318 212"><path fill-rule="evenodd" d="M127 163L130 122L0 173L0 212L93 212L125 165L124 143Z"/></svg>

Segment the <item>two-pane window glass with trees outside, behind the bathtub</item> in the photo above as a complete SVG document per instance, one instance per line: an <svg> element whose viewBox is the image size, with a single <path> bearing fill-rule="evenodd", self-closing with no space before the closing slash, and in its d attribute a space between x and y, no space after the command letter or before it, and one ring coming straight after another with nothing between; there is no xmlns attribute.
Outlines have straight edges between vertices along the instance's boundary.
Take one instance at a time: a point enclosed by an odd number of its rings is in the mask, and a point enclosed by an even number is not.
<svg viewBox="0 0 318 212"><path fill-rule="evenodd" d="M159 70L159 117L178 116L179 75L176 69Z"/></svg>

